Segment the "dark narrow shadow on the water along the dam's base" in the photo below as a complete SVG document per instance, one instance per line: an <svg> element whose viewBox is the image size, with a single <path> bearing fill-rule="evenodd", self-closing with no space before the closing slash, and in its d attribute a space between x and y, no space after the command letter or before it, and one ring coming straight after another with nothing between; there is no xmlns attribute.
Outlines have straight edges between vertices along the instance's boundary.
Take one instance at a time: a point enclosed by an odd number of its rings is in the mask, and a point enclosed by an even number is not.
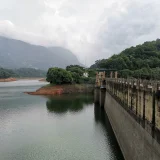
<svg viewBox="0 0 160 160"><path fill-rule="evenodd" d="M109 119L105 113L104 108L101 108L99 105L95 104L94 106L94 117L95 122L100 123L105 130L105 137L109 141L109 146L116 157L112 157L113 160L124 160L118 142L115 138L114 132L112 130Z"/></svg>

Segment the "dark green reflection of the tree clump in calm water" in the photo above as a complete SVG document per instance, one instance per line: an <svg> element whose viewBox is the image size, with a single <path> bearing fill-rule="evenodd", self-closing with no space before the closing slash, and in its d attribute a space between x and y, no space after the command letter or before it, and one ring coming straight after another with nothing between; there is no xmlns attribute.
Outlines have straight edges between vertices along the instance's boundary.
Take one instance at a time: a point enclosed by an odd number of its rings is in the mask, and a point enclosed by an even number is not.
<svg viewBox="0 0 160 160"><path fill-rule="evenodd" d="M93 103L93 95L61 95L48 97L46 106L49 112L57 114L78 112L83 109L84 105Z"/></svg>

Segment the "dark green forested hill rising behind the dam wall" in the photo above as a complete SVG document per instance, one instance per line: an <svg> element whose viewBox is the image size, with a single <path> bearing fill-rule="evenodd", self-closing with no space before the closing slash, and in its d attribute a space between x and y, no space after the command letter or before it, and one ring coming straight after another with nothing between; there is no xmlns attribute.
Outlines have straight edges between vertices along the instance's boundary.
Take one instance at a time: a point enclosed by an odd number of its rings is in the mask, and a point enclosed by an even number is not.
<svg viewBox="0 0 160 160"><path fill-rule="evenodd" d="M118 55L98 60L91 68L117 70L119 77L160 79L160 39L130 47Z"/></svg>

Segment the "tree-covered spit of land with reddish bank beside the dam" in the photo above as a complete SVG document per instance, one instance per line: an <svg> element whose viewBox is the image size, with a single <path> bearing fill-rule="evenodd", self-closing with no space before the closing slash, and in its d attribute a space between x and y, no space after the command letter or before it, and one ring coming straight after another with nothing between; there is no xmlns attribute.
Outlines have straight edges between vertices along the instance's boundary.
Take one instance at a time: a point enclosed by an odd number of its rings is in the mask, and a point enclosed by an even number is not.
<svg viewBox="0 0 160 160"><path fill-rule="evenodd" d="M95 83L94 69L79 65L70 65L66 69L49 68L46 81L50 84L35 92L25 92L30 95L61 95L71 93L92 93Z"/></svg>

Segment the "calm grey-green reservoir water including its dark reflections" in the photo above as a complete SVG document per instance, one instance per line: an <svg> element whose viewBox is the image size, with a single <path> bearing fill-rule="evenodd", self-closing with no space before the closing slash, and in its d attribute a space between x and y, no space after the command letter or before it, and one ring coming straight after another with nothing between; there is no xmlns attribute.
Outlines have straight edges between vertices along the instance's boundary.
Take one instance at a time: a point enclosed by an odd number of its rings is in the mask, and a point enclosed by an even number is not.
<svg viewBox="0 0 160 160"><path fill-rule="evenodd" d="M124 160L92 95L31 96L45 82L0 83L0 160Z"/></svg>

